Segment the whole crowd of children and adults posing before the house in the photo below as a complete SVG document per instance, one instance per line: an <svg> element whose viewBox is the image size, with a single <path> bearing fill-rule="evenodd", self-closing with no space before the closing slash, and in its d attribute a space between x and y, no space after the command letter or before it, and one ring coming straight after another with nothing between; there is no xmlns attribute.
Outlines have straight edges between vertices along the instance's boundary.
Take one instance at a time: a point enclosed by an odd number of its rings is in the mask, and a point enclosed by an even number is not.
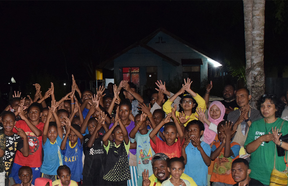
<svg viewBox="0 0 288 186"><path fill-rule="evenodd" d="M14 92L0 117L0 185L252 186L287 171L288 107L275 94L253 109L246 88L210 102L212 81L201 97L189 78L175 94L160 80L145 104L131 82L94 94L72 79L58 101L53 83L44 95L35 84L33 99Z"/></svg>

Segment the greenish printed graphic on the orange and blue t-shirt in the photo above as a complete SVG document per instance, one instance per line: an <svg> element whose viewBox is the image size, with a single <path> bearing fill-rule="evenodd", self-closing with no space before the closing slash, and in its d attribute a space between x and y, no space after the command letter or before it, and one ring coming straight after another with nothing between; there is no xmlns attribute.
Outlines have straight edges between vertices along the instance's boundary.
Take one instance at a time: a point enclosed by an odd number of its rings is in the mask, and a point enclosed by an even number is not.
<svg viewBox="0 0 288 186"><path fill-rule="evenodd" d="M231 164L232 164L231 157L224 157L224 153L220 152L217 160L215 160L213 172L220 175L229 175L231 174Z"/></svg>

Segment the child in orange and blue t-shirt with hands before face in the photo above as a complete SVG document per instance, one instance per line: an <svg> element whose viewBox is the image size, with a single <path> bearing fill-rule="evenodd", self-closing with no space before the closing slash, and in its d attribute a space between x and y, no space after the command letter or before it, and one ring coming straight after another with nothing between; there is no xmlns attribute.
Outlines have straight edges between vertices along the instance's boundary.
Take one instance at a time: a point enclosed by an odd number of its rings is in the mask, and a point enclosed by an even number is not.
<svg viewBox="0 0 288 186"><path fill-rule="evenodd" d="M213 143L211 147L211 160L214 161L210 181L213 185L234 185L236 182L231 175L232 161L239 157L240 145L232 142L236 131L232 131L232 123L224 120L217 126L217 135L220 142Z"/></svg>

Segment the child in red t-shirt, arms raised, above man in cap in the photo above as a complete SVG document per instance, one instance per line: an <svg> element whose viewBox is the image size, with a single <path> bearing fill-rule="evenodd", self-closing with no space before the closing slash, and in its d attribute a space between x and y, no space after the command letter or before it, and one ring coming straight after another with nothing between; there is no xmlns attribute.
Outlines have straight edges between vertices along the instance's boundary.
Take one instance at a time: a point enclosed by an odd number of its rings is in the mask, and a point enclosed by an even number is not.
<svg viewBox="0 0 288 186"><path fill-rule="evenodd" d="M162 152L166 154L169 158L180 157L181 147L184 143L184 133L175 115L177 105L174 106L174 109L172 108L172 113L168 113L165 119L163 119L162 122L157 125L149 134L151 147L154 152ZM171 116L173 117L174 122L170 122ZM156 136L156 134L164 124L165 126L163 136L165 138L165 142L161 141ZM176 138L177 142L175 142Z"/></svg>

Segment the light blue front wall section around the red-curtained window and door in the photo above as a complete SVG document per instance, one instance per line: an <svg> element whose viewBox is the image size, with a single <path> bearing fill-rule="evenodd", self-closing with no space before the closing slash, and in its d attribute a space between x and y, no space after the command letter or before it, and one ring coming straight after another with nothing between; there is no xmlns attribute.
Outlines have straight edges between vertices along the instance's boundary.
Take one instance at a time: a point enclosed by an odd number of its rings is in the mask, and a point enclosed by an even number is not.
<svg viewBox="0 0 288 186"><path fill-rule="evenodd" d="M182 66L175 67L164 61L160 56L150 52L149 50L137 46L128 52L114 59L114 75L118 82L122 80L123 67L139 67L140 68L140 85L145 85L146 67L156 67L158 79L167 81L168 78L173 79L182 73ZM120 71L121 70L121 71Z"/></svg>

